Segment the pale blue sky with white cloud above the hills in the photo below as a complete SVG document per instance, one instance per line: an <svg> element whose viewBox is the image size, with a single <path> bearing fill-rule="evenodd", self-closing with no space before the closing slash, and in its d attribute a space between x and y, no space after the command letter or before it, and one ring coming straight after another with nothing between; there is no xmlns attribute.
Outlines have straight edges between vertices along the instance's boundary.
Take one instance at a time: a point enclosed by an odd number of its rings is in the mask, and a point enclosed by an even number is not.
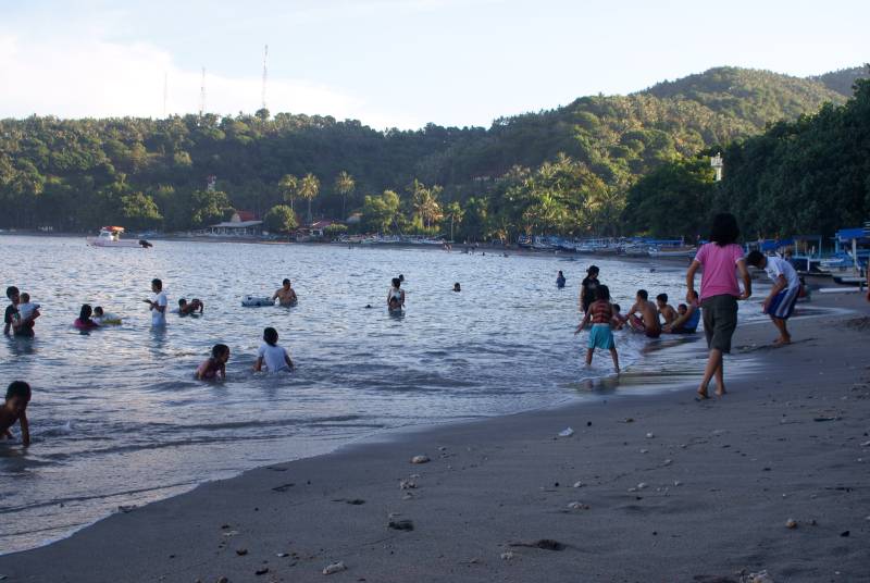
<svg viewBox="0 0 870 583"><path fill-rule="evenodd" d="M870 61L870 1L0 0L0 117L199 109L482 125L718 65Z"/></svg>

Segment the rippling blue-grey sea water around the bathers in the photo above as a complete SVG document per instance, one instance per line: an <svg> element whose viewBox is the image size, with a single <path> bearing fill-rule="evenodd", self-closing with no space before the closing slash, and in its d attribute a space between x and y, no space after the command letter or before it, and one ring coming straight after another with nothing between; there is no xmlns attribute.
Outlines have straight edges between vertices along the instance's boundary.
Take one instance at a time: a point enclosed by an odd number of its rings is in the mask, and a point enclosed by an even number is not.
<svg viewBox="0 0 870 583"><path fill-rule="evenodd" d="M592 398L607 353L582 367L577 287L587 260L440 250L158 241L99 249L84 238L0 237L2 284L42 306L36 338L0 343L2 388L28 381L33 446L0 445L0 551L44 544L117 509L215 477L322 454L413 424L498 415ZM680 301L684 271L595 260L623 309L634 292ZM557 270L568 286L557 289ZM407 311L384 307L406 277ZM201 318L150 328L150 280ZM243 308L246 294L294 282L295 308ZM451 292L453 282L461 294ZM91 334L83 302L123 315ZM372 305L372 309L366 309ZM251 372L274 326L295 374ZM225 383L192 379L215 343L232 349ZM647 343L617 337L623 367ZM654 343L655 344L655 343ZM657 369L666 367L666 359ZM630 369L631 370L631 369Z"/></svg>

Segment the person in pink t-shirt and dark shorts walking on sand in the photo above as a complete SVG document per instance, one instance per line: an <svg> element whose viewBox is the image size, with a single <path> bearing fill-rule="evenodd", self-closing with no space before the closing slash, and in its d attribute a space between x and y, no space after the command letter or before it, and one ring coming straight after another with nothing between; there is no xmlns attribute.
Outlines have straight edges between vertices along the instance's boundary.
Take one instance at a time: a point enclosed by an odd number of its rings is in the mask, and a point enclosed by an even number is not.
<svg viewBox="0 0 870 583"><path fill-rule="evenodd" d="M686 272L686 301L695 297L695 274L704 268L700 280L700 308L704 334L707 336L709 356L704 379L698 386L701 399L709 397L707 389L716 377L716 394L725 394L725 374L722 355L731 351L731 337L737 327L737 300L753 295L753 281L746 269L743 249L735 241L739 235L733 214L717 214L713 219L710 243L698 249ZM743 280L743 292L736 272Z"/></svg>

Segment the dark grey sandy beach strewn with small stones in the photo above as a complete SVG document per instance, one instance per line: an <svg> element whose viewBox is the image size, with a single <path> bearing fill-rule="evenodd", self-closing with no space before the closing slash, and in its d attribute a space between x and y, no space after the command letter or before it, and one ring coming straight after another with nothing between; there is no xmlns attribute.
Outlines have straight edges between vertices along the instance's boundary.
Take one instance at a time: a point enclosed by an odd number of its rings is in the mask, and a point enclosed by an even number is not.
<svg viewBox="0 0 870 583"><path fill-rule="evenodd" d="M387 436L119 512L0 557L0 576L322 581L340 561L330 581L870 581L870 305L813 305L858 313L794 320L776 349L772 325L742 326L726 374L753 372L724 399L618 388Z"/></svg>

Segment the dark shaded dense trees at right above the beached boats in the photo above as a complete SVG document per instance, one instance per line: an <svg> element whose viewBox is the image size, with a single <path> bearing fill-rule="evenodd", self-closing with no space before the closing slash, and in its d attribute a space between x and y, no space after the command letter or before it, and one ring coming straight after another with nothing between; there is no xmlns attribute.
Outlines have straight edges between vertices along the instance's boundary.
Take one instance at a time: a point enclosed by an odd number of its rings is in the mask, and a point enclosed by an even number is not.
<svg viewBox="0 0 870 583"><path fill-rule="evenodd" d="M686 236L711 213L739 216L749 238L831 236L870 218L870 80L858 80L843 107L780 122L736 140L713 184L706 157L681 159L641 178L627 194L624 219L634 232Z"/></svg>

